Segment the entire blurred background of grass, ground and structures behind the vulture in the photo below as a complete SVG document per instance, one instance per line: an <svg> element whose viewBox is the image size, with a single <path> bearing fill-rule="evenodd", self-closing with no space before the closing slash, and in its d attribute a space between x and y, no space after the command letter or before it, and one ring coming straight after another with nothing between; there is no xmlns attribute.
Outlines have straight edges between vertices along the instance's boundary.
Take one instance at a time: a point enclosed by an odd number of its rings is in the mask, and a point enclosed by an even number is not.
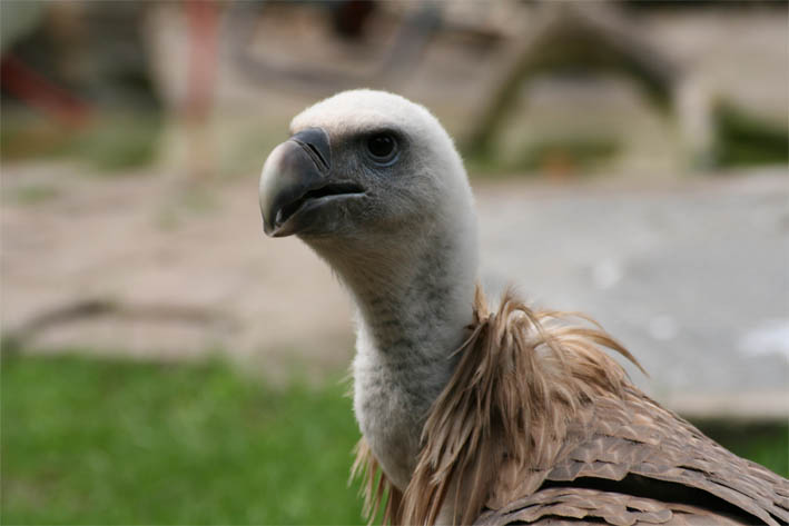
<svg viewBox="0 0 789 526"><path fill-rule="evenodd" d="M257 180L371 87L466 160L481 279L789 475L789 18L768 1L0 3L3 524L361 524L351 306Z"/></svg>

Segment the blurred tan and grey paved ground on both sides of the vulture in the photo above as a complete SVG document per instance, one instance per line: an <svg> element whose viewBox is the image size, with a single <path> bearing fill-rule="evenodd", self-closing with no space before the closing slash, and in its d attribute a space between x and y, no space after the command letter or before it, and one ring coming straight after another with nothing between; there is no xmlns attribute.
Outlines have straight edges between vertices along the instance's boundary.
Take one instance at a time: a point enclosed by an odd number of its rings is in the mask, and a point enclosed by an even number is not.
<svg viewBox="0 0 789 526"><path fill-rule="evenodd" d="M348 301L296 239L263 238L256 176L194 188L27 165L2 178L6 336L27 327L37 351L223 353L275 379L349 363ZM482 279L592 315L677 410L787 417L788 181L480 182Z"/></svg>

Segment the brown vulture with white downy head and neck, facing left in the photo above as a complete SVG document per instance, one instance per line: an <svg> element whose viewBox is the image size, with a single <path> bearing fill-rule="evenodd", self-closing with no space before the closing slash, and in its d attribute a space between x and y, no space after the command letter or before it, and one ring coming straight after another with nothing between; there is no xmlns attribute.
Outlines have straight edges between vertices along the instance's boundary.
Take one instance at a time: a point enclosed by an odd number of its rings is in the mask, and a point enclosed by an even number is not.
<svg viewBox="0 0 789 526"><path fill-rule="evenodd" d="M463 161L427 109L344 91L289 131L260 175L264 230L298 236L355 306L371 520L789 522L789 480L639 390L609 353L638 363L591 318L512 292L489 307Z"/></svg>

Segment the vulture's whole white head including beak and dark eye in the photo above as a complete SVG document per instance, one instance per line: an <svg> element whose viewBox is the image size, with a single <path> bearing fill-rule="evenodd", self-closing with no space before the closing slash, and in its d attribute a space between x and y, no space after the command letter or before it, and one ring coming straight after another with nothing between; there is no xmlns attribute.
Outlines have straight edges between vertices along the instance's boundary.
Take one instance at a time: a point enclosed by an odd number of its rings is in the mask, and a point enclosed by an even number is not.
<svg viewBox="0 0 789 526"><path fill-rule="evenodd" d="M343 246L393 234L418 242L473 218L463 162L438 121L372 90L338 93L293 119L264 166L260 210L269 236Z"/></svg>

